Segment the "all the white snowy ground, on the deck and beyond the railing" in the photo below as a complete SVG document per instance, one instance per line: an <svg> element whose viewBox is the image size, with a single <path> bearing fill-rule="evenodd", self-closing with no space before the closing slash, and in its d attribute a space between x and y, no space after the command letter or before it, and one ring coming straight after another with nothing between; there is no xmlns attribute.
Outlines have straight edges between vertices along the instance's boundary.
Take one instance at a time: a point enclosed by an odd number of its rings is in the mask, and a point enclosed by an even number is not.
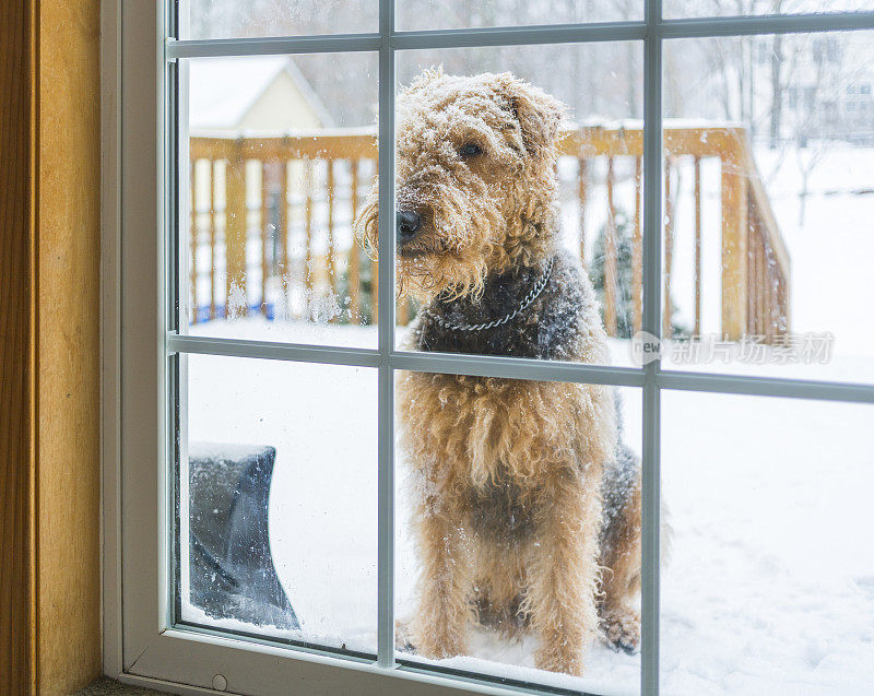
<svg viewBox="0 0 874 696"><path fill-rule="evenodd" d="M825 365L700 368L874 381L874 193L864 192L874 190L874 151L830 151L811 178L804 224L796 165L784 161L778 168L769 151L756 157L792 258L793 331L832 332L834 356ZM718 167L705 163L704 176L702 331L710 332L719 330ZM688 173L681 174L686 203L677 207L675 221L674 291L687 323L694 287L690 186ZM617 200L629 192L621 181ZM601 213L589 215L589 229L597 229ZM574 216L565 211L569 227ZM577 247L578 237L566 241ZM376 344L373 328L258 318L193 329ZM627 342L614 341L613 354L615 363L630 364ZM376 371L199 355L187 362L191 441L276 448L271 541L303 623L296 637L374 651ZM627 438L639 451L640 397L634 389L623 396ZM872 423L874 406L864 404L664 394L663 493L673 528L662 570L664 693L874 693ZM398 468L397 597L398 615L404 616L413 605L416 558L408 535L403 461ZM187 618L204 618L185 611ZM534 670L533 645L477 634L472 656L447 663L597 693L638 692L639 657L599 645L584 677L572 679Z"/></svg>

